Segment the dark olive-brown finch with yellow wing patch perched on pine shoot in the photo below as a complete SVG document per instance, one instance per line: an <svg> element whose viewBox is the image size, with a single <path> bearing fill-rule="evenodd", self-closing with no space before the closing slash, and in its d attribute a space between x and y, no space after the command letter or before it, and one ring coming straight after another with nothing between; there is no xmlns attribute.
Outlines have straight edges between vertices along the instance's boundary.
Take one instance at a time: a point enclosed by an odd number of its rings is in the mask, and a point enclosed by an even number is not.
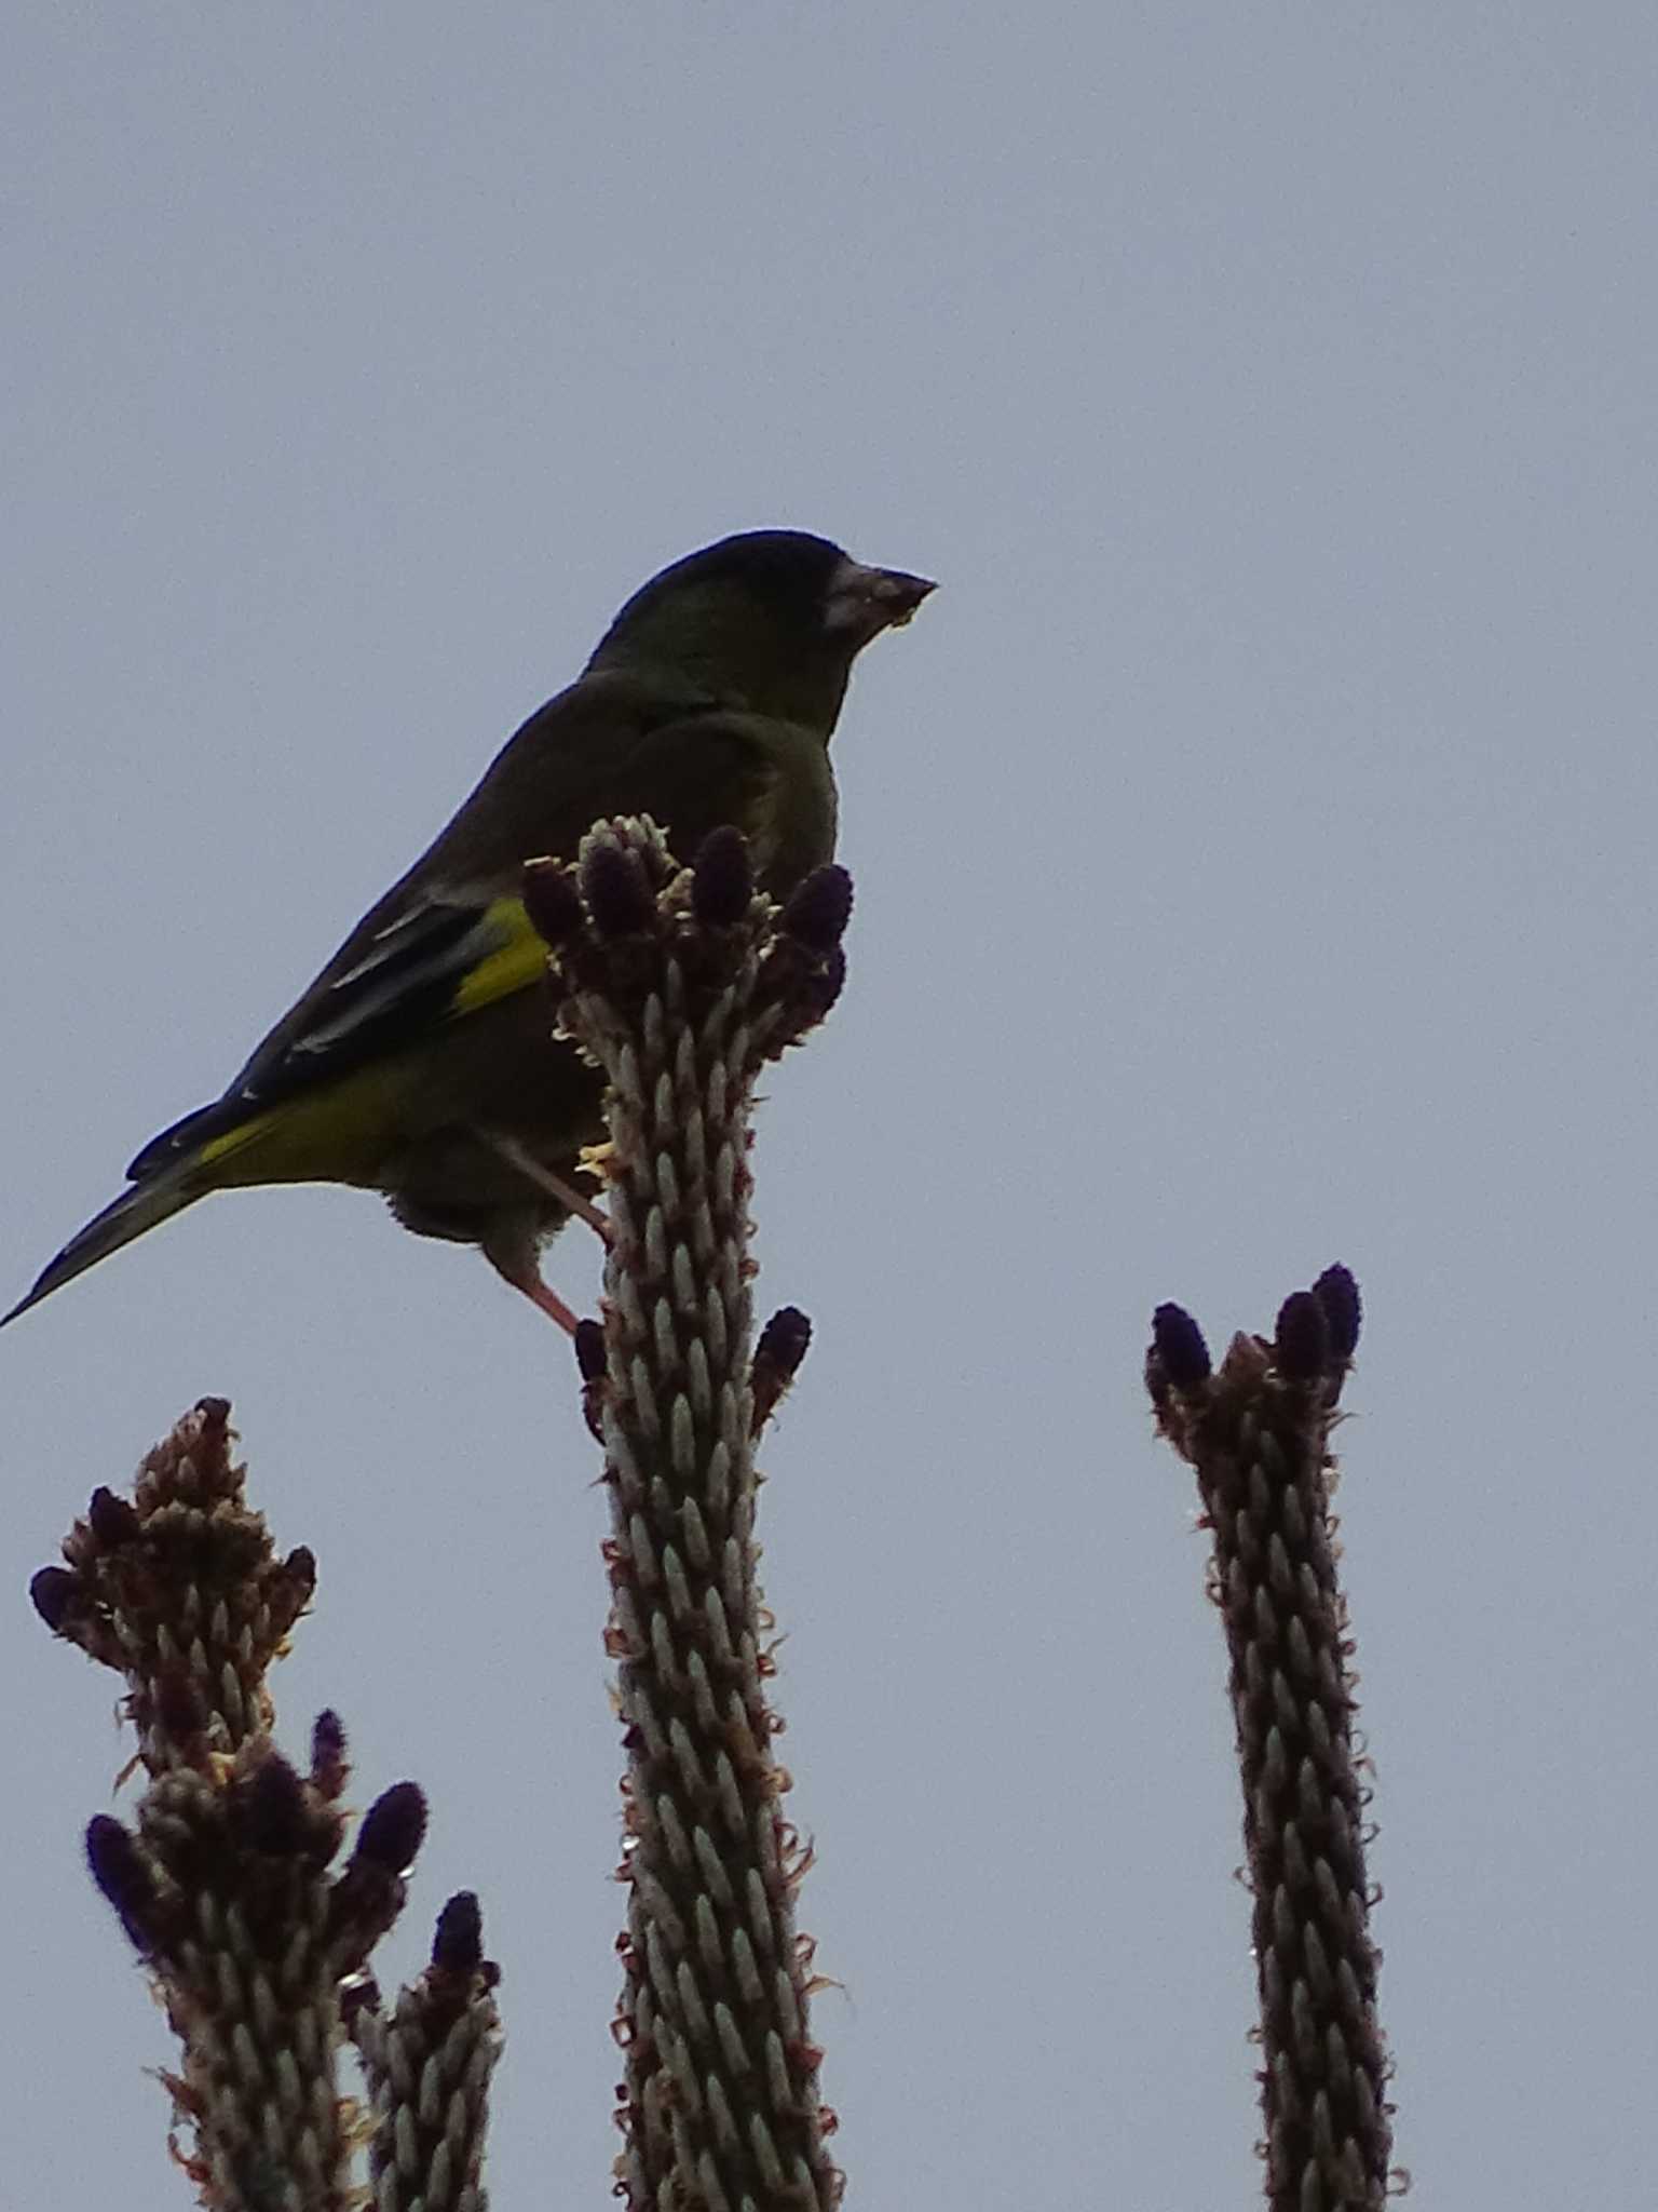
<svg viewBox="0 0 1658 2212"><path fill-rule="evenodd" d="M210 1190L354 1183L420 1237L475 1243L570 1327L539 1250L604 1135L601 1086L550 1033L524 863L575 858L599 816L652 814L681 858L736 823L760 885L791 889L833 854L829 734L851 664L931 588L802 531L745 531L663 568L223 1097L146 1144L133 1188L2 1318Z"/></svg>

